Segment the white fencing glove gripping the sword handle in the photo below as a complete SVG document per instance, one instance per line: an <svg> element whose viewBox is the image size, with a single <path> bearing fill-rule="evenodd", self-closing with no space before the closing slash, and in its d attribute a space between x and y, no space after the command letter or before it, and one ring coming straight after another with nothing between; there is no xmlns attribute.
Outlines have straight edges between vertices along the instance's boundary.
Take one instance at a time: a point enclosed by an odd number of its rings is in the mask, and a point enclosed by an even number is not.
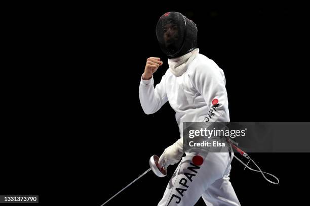
<svg viewBox="0 0 310 206"><path fill-rule="evenodd" d="M158 161L159 167L164 167L166 169L169 165L178 163L181 160L183 153L183 139L180 138L174 144L165 149Z"/></svg>

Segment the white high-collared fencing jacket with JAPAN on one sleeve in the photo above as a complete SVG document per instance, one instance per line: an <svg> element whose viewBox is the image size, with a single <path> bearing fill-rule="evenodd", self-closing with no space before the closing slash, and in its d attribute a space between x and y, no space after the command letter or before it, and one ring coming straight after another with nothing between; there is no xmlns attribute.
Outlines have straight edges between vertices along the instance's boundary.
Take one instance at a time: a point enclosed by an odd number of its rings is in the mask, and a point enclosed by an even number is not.
<svg viewBox="0 0 310 206"><path fill-rule="evenodd" d="M157 112L169 101L176 113L181 137L183 122L229 122L225 76L213 60L196 49L181 65L181 75L175 72L175 61L169 60L168 64L170 68L155 88L153 77L141 78L139 97L145 114Z"/></svg>

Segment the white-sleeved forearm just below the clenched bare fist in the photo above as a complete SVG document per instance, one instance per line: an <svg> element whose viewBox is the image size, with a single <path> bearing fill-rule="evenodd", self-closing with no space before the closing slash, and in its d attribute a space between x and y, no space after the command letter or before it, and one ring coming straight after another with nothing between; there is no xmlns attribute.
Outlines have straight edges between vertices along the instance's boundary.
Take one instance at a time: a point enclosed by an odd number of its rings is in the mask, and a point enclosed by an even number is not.
<svg viewBox="0 0 310 206"><path fill-rule="evenodd" d="M154 80L141 79L139 86L139 98L141 107L145 114L156 113L161 108L161 97L155 91Z"/></svg>

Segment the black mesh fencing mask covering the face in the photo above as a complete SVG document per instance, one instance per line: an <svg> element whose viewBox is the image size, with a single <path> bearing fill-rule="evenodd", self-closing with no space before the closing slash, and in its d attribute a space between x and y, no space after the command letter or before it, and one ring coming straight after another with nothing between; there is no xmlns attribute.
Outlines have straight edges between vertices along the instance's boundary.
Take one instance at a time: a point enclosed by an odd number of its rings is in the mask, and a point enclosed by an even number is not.
<svg viewBox="0 0 310 206"><path fill-rule="evenodd" d="M181 13L167 12L159 19L156 35L169 59L183 56L197 48L197 26Z"/></svg>

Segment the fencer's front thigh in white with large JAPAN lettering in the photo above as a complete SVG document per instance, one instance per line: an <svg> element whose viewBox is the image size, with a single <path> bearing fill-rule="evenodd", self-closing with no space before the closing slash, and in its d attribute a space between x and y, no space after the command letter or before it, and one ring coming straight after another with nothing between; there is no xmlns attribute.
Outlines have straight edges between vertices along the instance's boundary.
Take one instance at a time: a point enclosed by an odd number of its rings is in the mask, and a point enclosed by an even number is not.
<svg viewBox="0 0 310 206"><path fill-rule="evenodd" d="M202 157L201 165L197 156ZM210 185L223 177L229 161L228 156L225 152L186 153L158 205L194 205Z"/></svg>

